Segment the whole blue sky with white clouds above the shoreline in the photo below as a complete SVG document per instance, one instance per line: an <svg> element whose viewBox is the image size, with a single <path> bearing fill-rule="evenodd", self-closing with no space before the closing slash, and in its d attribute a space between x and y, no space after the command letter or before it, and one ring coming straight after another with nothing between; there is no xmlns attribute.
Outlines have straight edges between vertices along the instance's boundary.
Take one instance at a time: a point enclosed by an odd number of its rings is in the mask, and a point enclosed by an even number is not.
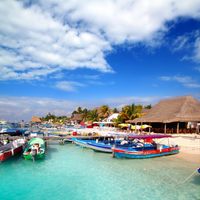
<svg viewBox="0 0 200 200"><path fill-rule="evenodd" d="M200 99L200 1L0 2L0 119Z"/></svg>

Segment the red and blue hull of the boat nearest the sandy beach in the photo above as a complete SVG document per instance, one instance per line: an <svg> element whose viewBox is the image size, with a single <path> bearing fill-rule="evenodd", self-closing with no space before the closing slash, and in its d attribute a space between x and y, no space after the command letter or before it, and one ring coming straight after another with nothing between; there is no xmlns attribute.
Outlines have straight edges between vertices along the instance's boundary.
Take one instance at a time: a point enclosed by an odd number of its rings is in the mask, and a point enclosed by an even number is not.
<svg viewBox="0 0 200 200"><path fill-rule="evenodd" d="M169 147L162 150L143 150L143 151L128 151L124 149L113 148L113 157L115 158L154 158L160 156L167 156L179 153L179 147Z"/></svg>

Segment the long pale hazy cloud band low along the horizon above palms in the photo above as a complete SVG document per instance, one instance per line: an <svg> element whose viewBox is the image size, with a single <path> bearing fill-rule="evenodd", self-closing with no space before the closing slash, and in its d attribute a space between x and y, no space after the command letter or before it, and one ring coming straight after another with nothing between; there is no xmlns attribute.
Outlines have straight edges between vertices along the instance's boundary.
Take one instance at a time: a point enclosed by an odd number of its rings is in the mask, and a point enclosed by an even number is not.
<svg viewBox="0 0 200 200"><path fill-rule="evenodd" d="M130 103L154 104L158 100L160 100L160 97L116 97L98 99L94 102L91 102L91 100L68 101L41 97L0 97L0 119L30 120L34 115L42 117L48 112L55 115L70 116L72 111L79 106L92 109L108 104L110 107L121 108Z"/></svg>

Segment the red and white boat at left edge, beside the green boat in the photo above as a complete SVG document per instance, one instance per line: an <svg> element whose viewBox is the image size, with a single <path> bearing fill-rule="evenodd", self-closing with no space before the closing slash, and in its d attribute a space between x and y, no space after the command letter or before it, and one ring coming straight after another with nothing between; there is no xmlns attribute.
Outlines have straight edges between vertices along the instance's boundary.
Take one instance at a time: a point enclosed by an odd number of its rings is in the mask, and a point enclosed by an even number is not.
<svg viewBox="0 0 200 200"><path fill-rule="evenodd" d="M24 139L16 139L12 142L8 142L7 144L1 143L0 161L4 161L14 155L22 153L24 144Z"/></svg>

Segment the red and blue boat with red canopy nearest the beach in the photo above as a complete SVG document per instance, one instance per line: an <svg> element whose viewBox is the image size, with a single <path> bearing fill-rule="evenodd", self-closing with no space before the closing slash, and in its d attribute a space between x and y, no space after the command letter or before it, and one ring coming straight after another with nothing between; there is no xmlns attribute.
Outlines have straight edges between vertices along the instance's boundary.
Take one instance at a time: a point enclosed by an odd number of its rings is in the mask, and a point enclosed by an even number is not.
<svg viewBox="0 0 200 200"><path fill-rule="evenodd" d="M170 146L156 143L154 139L170 138L171 135L130 135L129 140L136 140L132 147L113 147L116 158L153 158L179 153L178 145Z"/></svg>

